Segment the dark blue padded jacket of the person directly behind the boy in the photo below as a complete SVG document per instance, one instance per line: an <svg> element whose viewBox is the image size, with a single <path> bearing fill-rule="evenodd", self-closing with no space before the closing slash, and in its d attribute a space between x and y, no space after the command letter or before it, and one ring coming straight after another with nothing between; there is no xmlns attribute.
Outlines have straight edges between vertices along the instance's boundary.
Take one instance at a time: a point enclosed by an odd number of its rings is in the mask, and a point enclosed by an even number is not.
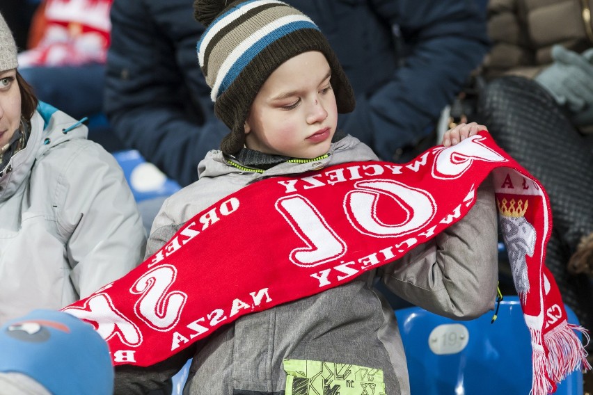
<svg viewBox="0 0 593 395"><path fill-rule="evenodd" d="M427 134L488 50L475 0L287 0L329 39L356 93L339 127L392 160ZM115 0L105 111L116 134L187 185L228 128L196 56L193 0ZM398 40L397 38L401 38Z"/></svg>

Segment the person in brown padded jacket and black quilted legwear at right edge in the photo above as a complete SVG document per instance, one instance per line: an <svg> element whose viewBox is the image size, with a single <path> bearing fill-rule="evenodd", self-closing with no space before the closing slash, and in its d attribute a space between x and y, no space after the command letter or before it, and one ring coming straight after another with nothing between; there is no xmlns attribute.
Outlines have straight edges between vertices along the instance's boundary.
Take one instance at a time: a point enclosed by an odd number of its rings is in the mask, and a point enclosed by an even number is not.
<svg viewBox="0 0 593 395"><path fill-rule="evenodd" d="M593 26L586 5L489 2L493 48L478 119L546 187L553 214L546 265L564 302L592 329L585 273L593 274Z"/></svg>

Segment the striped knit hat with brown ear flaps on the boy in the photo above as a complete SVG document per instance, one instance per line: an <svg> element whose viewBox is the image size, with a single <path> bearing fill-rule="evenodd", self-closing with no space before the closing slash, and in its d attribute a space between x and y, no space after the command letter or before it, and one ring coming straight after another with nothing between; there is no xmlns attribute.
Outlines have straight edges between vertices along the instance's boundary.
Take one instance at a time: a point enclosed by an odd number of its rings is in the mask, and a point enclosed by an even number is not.
<svg viewBox="0 0 593 395"><path fill-rule="evenodd" d="M319 27L299 10L277 0L196 0L193 8L207 26L197 49L214 113L231 129L221 143L224 153L242 149L245 120L269 75L303 52L325 55L338 112L354 109L354 93L338 58Z"/></svg>

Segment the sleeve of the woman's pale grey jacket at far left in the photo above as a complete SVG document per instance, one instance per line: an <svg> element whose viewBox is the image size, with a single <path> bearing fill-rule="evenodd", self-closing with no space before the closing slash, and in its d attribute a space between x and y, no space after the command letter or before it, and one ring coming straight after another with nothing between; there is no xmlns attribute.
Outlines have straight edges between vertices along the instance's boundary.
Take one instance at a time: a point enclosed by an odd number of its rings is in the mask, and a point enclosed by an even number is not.
<svg viewBox="0 0 593 395"><path fill-rule="evenodd" d="M116 160L100 145L72 140L75 152L58 178L58 231L66 244L70 278L80 298L117 280L142 261L145 231L136 202ZM58 203L60 204L60 203Z"/></svg>

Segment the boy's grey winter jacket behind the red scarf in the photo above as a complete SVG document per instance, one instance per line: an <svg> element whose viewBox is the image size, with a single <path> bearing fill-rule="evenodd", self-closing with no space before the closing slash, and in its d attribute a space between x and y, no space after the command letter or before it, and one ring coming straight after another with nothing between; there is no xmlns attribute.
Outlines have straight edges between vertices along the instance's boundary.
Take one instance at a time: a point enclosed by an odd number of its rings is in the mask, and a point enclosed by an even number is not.
<svg viewBox="0 0 593 395"><path fill-rule="evenodd" d="M370 148L351 136L333 143L327 159L280 163L262 174L229 166L221 152L211 151L198 166L198 182L171 196L161 208L152 226L147 256L193 215L250 182L374 160L377 156ZM480 316L493 307L496 298L496 229L493 188L486 182L465 218L400 261L315 296L242 316L198 341L188 353L157 365L118 366L116 394L145 393L176 373L191 356L184 392L191 395L284 394L285 360L381 369L386 394L409 394L406 357L395 315L374 290L374 280L381 277L397 295L432 312L456 319ZM249 236L250 229L237 232L242 233Z"/></svg>

